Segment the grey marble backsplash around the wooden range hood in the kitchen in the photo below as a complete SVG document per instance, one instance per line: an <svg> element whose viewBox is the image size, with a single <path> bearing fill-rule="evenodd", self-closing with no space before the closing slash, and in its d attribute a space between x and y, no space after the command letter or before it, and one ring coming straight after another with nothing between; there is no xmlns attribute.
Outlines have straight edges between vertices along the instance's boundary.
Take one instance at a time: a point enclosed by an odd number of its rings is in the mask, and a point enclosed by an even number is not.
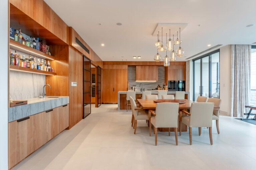
<svg viewBox="0 0 256 170"><path fill-rule="evenodd" d="M145 88L145 90L155 89L157 85L163 87L163 84L165 83L165 67L158 67L158 81L136 82L136 66L128 66L128 82L131 87L133 87L133 85L136 85L137 89L141 89L140 83L143 84L143 88Z"/></svg>

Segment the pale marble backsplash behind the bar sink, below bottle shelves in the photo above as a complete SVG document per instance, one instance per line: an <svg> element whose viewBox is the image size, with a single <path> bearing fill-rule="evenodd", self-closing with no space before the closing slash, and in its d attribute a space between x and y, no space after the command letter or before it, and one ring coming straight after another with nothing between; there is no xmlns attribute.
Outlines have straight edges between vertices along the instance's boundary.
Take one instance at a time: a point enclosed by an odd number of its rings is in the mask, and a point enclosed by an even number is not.
<svg viewBox="0 0 256 170"><path fill-rule="evenodd" d="M45 75L10 71L10 100L39 97L44 85Z"/></svg>

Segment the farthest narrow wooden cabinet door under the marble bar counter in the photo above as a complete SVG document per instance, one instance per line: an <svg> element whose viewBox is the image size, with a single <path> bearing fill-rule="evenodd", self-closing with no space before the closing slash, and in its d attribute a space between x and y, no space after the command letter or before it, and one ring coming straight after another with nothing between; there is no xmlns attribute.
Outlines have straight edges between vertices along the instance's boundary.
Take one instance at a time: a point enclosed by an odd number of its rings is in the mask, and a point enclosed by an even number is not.
<svg viewBox="0 0 256 170"><path fill-rule="evenodd" d="M68 104L59 107L59 131L68 127Z"/></svg>

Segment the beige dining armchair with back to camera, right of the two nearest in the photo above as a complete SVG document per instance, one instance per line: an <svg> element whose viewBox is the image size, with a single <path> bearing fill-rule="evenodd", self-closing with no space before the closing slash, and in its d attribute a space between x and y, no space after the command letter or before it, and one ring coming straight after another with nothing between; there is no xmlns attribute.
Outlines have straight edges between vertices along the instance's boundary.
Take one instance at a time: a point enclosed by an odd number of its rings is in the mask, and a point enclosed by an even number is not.
<svg viewBox="0 0 256 170"><path fill-rule="evenodd" d="M199 127L199 136L201 135L202 127L209 127L209 136L211 145L212 141L212 113L213 113L214 103L210 102L198 102L191 103L190 113L181 110L186 113L188 116L180 117L180 126L181 123L189 126L189 142L192 145L192 127Z"/></svg>

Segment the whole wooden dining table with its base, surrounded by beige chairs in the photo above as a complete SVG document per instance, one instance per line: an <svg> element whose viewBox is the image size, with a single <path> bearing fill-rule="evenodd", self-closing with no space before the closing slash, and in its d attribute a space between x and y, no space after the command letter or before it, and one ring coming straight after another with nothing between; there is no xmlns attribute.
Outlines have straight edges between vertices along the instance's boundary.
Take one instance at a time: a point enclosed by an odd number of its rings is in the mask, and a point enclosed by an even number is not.
<svg viewBox="0 0 256 170"><path fill-rule="evenodd" d="M156 109L158 102L173 102L179 103L179 114L180 116L185 116L185 113L182 113L180 110L188 110L191 107L191 103L195 103L196 101L189 99L137 99L142 109ZM218 106L214 106L214 109L220 109ZM149 119L151 117L151 112L149 112ZM180 129L180 118L178 117L178 129ZM158 128L159 131L168 132L169 128ZM175 131L175 128L171 128L171 131ZM181 124L181 131L188 131L187 125L184 123Z"/></svg>

